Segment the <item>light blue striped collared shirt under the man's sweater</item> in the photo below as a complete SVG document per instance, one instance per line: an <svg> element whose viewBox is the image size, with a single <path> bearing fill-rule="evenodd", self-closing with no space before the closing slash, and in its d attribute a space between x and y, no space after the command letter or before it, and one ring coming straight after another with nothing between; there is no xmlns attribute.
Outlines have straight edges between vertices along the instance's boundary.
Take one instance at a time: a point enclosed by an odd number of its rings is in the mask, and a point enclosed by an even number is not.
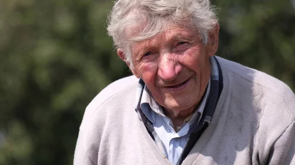
<svg viewBox="0 0 295 165"><path fill-rule="evenodd" d="M155 132L158 137L155 138L155 142L162 151L164 155L168 158L170 162L177 165L177 161L182 153L182 150L189 138L189 131L191 125L198 119L200 121L207 98L210 92L210 80L207 85L206 94L200 103L199 107L194 111L194 113L185 119L183 125L177 128L178 132L175 131L173 123L170 118L165 116L161 106L156 102L148 87L145 86L142 99L141 99L141 109L146 117L151 121Z"/></svg>

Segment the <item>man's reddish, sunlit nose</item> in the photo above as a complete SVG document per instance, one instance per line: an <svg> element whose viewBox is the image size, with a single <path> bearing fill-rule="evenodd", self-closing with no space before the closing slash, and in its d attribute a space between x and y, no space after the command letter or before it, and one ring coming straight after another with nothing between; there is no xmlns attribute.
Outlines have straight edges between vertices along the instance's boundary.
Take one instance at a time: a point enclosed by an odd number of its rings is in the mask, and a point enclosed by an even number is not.
<svg viewBox="0 0 295 165"><path fill-rule="evenodd" d="M181 71L181 65L174 59L163 57L159 60L158 75L166 81L172 81Z"/></svg>

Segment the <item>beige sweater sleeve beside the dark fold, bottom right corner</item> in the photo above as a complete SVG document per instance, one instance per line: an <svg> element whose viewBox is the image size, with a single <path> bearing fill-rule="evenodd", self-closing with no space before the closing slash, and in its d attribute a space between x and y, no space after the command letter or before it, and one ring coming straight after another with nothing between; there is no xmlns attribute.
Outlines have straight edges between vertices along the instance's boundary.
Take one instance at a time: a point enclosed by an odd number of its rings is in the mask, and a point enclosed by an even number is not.
<svg viewBox="0 0 295 165"><path fill-rule="evenodd" d="M295 121L273 143L267 165L295 165Z"/></svg>

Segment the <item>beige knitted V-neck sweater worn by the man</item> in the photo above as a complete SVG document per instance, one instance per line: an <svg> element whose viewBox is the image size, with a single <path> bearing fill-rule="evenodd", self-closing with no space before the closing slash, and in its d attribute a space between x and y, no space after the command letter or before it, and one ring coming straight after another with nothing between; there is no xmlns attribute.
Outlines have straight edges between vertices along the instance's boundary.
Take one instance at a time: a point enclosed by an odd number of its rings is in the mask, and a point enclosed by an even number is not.
<svg viewBox="0 0 295 165"><path fill-rule="evenodd" d="M217 57L224 87L210 125L182 165L295 165L295 94ZM172 165L135 112L138 79L120 79L86 108L74 165Z"/></svg>

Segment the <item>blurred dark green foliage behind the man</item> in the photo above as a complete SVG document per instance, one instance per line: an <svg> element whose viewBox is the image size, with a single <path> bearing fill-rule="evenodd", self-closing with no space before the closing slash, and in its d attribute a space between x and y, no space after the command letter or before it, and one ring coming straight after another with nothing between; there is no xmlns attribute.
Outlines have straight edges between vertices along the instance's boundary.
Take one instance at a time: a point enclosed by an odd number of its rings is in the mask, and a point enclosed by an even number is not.
<svg viewBox="0 0 295 165"><path fill-rule="evenodd" d="M293 3L292 3L293 1ZM295 89L294 0L212 0L217 55ZM84 110L129 75L106 35L110 0L0 1L0 165L71 165Z"/></svg>

